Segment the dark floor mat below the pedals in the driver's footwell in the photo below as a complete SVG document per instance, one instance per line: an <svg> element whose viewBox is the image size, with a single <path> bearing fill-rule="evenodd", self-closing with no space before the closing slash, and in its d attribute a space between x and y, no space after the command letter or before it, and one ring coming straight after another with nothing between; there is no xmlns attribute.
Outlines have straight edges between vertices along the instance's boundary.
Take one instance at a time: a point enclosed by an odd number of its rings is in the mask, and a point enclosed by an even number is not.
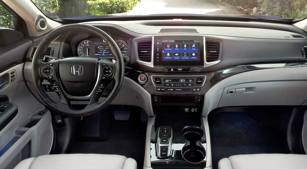
<svg viewBox="0 0 307 169"><path fill-rule="evenodd" d="M133 158L138 163L138 169L143 168L145 152L146 124L115 122L111 127L108 140L101 142L79 142L72 153L99 153L124 155Z"/></svg>

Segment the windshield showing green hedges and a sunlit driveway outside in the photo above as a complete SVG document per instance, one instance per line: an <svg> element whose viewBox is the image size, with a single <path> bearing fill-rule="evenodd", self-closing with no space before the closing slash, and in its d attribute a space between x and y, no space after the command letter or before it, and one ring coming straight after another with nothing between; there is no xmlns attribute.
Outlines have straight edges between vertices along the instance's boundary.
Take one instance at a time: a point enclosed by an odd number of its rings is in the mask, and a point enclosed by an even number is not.
<svg viewBox="0 0 307 169"><path fill-rule="evenodd" d="M89 18L88 16L101 18L106 15L151 14L246 15L273 20L307 18L307 0L32 0L32 2L52 19L82 20Z"/></svg>

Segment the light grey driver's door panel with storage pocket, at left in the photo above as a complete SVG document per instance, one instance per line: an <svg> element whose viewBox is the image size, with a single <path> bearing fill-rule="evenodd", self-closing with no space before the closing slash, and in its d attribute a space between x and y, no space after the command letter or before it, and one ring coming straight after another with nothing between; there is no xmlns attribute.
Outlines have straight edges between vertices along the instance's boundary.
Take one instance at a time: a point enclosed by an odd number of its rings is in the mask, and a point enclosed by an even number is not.
<svg viewBox="0 0 307 169"><path fill-rule="evenodd" d="M6 36L5 32L0 29L0 37ZM0 86L0 102L17 106L17 115L0 128L1 169L14 168L25 158L49 154L52 147L51 114L29 91L24 79L25 56L31 45L32 41L24 37L0 45L0 82L6 83Z"/></svg>

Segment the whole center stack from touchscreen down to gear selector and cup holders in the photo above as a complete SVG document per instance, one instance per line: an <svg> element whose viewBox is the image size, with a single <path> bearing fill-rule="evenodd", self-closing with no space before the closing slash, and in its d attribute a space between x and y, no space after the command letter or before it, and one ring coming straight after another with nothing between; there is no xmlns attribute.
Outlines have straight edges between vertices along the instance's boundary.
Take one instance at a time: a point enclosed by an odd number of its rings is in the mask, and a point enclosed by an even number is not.
<svg viewBox="0 0 307 169"><path fill-rule="evenodd" d="M151 45L151 62L144 65L155 72L136 73L139 84L151 95L155 115L150 117L155 120L149 120L153 125L147 126L150 138L146 137L146 146L150 140L150 150L146 150L144 166L153 169L210 168L208 122L201 113L204 93L211 84L208 79L213 75L201 70L219 61L206 61L204 36L158 35L152 37ZM144 56L141 53L139 58Z"/></svg>

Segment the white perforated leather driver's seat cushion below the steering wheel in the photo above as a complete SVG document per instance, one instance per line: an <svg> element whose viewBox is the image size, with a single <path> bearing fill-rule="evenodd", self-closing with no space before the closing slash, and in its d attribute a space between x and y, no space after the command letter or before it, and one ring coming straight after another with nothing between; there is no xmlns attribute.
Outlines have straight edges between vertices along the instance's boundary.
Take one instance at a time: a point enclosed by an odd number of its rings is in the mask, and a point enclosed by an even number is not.
<svg viewBox="0 0 307 169"><path fill-rule="evenodd" d="M137 169L137 163L122 155L57 154L25 159L14 169Z"/></svg>

